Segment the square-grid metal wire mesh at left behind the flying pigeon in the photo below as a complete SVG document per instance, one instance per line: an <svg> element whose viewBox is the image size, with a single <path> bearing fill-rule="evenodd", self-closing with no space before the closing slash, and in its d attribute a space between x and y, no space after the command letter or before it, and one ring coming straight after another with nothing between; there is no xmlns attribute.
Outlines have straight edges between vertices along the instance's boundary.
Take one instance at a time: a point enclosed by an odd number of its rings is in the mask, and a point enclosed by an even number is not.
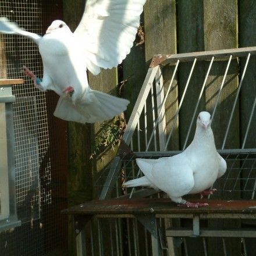
<svg viewBox="0 0 256 256"><path fill-rule="evenodd" d="M3 0L0 3L0 16L37 34L44 34L48 22L60 19L61 11L59 0ZM37 45L29 38L0 34L0 78L25 81L13 86L16 201L22 226L0 234L1 255L45 255L49 251L65 255L66 218L59 215L66 207L66 182L63 182L66 176L56 173L59 169L65 172L66 161L61 157L63 163L58 166L54 159L58 144L65 150L66 142L65 137L58 143L54 138L55 125L59 122L52 116L56 95L35 88L33 81L24 76L23 65L42 77Z"/></svg>

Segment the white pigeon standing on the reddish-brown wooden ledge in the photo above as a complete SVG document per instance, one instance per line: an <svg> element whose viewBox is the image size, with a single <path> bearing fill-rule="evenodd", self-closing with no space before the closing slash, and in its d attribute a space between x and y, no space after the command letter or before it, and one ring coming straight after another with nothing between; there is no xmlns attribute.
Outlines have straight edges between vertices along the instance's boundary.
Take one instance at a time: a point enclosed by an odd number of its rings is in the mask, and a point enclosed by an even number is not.
<svg viewBox="0 0 256 256"><path fill-rule="evenodd" d="M208 205L188 202L182 196L208 189L227 168L226 161L216 151L208 112L198 115L194 139L182 153L159 159L137 158L136 162L145 176L130 180L124 186L162 190L172 201L187 207Z"/></svg>

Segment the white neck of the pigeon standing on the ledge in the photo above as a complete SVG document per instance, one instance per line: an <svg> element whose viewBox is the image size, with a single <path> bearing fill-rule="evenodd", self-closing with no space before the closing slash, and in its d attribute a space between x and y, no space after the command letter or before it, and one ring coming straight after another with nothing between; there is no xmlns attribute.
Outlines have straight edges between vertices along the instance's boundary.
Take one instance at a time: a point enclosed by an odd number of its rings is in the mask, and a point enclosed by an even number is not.
<svg viewBox="0 0 256 256"><path fill-rule="evenodd" d="M208 127L208 129L204 129L204 127L197 127L195 130L194 140L191 144L195 147L200 146L200 148L205 148L205 150L216 150L214 133L212 133L211 127Z"/></svg>

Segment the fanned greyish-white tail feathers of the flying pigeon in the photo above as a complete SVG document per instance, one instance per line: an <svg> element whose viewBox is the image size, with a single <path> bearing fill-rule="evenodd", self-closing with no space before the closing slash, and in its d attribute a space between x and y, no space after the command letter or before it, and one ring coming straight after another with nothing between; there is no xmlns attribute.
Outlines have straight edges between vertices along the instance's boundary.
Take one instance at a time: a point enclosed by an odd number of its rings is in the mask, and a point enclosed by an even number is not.
<svg viewBox="0 0 256 256"><path fill-rule="evenodd" d="M69 98L60 97L54 115L66 121L95 123L112 119L126 110L129 101L92 90L97 102L73 104Z"/></svg>

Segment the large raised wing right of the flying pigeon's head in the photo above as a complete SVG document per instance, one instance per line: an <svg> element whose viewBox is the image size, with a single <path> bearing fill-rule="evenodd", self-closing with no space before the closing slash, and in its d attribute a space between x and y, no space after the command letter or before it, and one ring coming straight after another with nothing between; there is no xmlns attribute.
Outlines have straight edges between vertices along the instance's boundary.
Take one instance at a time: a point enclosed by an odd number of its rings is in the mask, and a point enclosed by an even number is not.
<svg viewBox="0 0 256 256"><path fill-rule="evenodd" d="M136 37L146 0L88 0L79 26L74 31L84 49L87 68L98 74L100 67L120 64Z"/></svg>

